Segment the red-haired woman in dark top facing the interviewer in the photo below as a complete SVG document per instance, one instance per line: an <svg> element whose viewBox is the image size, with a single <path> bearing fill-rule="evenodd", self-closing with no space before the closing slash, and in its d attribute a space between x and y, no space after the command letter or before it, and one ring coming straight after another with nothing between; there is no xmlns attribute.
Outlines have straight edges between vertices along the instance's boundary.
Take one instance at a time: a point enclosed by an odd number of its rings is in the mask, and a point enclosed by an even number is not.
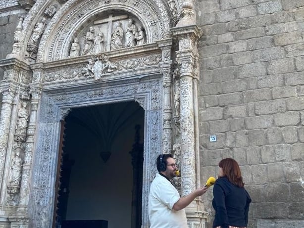
<svg viewBox="0 0 304 228"><path fill-rule="evenodd" d="M244 187L239 164L225 158L218 166L218 179L213 187L213 228L246 228L251 198Z"/></svg>

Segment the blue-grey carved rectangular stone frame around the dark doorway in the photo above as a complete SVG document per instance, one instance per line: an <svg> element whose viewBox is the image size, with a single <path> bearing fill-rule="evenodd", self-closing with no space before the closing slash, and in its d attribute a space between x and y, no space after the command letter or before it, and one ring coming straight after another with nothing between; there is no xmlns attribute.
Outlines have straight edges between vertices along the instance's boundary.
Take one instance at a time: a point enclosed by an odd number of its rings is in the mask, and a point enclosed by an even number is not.
<svg viewBox="0 0 304 228"><path fill-rule="evenodd" d="M30 225L32 228L51 227L54 204L54 175L59 143L60 119L72 107L135 100L145 109L146 137L144 142L143 227L148 227L148 192L155 173L153 163L161 148L161 84L159 78L131 80L119 85L86 86L82 90L45 91L39 114L39 137L33 161L35 177L31 183ZM115 88L115 92L113 91ZM154 172L153 172L154 171Z"/></svg>

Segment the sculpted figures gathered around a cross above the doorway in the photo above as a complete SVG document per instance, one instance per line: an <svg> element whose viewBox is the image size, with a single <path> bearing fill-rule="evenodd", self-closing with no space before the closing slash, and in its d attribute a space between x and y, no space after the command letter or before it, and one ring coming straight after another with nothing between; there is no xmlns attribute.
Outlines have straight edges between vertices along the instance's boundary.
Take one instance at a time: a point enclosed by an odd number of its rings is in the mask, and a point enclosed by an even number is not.
<svg viewBox="0 0 304 228"><path fill-rule="evenodd" d="M96 25L101 26L96 27ZM107 18L94 21L94 26L91 26L86 32L81 53L79 39L73 40L68 57L100 54L104 51L139 46L145 43L145 31L142 26L135 25L134 19L127 14L119 16L109 14Z"/></svg>

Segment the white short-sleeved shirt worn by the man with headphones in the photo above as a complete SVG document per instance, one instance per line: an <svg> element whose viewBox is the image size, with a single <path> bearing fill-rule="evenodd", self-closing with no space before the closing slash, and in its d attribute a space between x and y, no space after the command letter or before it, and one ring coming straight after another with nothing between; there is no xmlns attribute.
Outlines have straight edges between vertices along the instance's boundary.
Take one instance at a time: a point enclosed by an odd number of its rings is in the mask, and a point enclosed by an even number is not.
<svg viewBox="0 0 304 228"><path fill-rule="evenodd" d="M166 178L156 174L149 193L150 228L188 228L185 209L172 209L179 199L176 188Z"/></svg>

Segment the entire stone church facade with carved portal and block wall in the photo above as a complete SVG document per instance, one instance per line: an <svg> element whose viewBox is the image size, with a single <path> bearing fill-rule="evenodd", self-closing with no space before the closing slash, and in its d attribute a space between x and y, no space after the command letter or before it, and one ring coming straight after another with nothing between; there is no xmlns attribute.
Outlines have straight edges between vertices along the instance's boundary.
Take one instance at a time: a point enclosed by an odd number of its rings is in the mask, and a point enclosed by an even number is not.
<svg viewBox="0 0 304 228"><path fill-rule="evenodd" d="M142 228L172 151L182 196L233 157L250 228L304 227L303 33L303 0L2 0L0 228L54 227L61 121L122 101L145 110Z"/></svg>

